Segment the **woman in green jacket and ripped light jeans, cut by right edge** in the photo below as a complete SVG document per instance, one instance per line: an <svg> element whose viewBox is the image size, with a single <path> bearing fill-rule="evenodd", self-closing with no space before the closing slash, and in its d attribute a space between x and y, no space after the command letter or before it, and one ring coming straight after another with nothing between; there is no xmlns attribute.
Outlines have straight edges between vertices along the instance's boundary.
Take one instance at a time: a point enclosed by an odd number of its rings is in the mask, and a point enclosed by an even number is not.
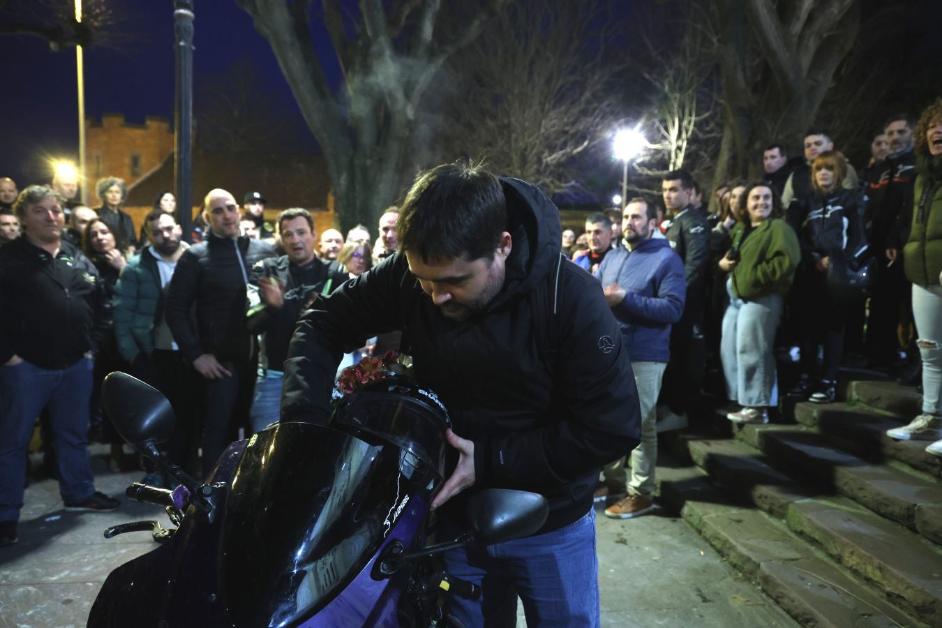
<svg viewBox="0 0 942 628"><path fill-rule="evenodd" d="M909 240L902 249L913 282L913 318L922 357L922 413L886 431L903 441L934 441L926 451L942 456L942 98L919 117L916 183Z"/></svg>

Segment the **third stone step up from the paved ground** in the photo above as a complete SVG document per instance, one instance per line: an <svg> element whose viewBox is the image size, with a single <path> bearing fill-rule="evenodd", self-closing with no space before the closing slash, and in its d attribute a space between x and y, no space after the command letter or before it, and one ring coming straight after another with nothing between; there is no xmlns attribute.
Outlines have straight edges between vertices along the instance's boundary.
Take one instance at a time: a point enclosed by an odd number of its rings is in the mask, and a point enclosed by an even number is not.
<svg viewBox="0 0 942 628"><path fill-rule="evenodd" d="M873 512L942 543L942 483L885 464L870 464L830 446L807 427L748 426L771 465L788 475L823 484ZM750 439L753 440L753 439ZM752 444L752 443L751 443ZM754 446L755 446L754 445Z"/></svg>

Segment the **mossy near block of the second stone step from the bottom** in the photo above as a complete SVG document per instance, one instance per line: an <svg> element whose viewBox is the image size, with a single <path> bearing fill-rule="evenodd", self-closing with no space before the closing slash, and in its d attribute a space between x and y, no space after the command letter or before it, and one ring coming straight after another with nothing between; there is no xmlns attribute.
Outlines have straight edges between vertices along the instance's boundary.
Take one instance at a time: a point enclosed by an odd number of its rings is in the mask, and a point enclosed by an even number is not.
<svg viewBox="0 0 942 628"><path fill-rule="evenodd" d="M786 521L887 600L942 625L942 550L932 542L844 497L793 502Z"/></svg>

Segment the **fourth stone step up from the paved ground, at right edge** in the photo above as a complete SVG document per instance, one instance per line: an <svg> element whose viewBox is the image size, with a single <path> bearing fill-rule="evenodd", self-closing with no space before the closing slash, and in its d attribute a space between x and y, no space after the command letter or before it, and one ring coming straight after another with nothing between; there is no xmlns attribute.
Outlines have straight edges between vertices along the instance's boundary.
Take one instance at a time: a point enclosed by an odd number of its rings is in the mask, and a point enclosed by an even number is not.
<svg viewBox="0 0 942 628"><path fill-rule="evenodd" d="M873 382L870 382L873 383ZM885 383L885 382L875 382ZM855 456L874 462L889 459L942 477L942 458L926 452L926 441L895 441L886 430L909 422L860 405L844 403L800 403L795 406L795 421L814 427L822 436Z"/></svg>

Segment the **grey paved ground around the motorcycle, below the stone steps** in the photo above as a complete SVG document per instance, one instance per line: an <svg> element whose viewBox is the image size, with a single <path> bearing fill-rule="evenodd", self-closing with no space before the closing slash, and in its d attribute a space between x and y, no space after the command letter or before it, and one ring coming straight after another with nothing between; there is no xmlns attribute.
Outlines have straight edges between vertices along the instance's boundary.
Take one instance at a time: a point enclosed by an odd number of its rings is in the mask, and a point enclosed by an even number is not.
<svg viewBox="0 0 942 628"><path fill-rule="evenodd" d="M104 454L104 446L93 447ZM108 525L163 513L123 497L141 473L108 473L104 459L93 460L96 487L121 496L122 508L65 512L55 481L27 488L20 542L0 549L0 628L84 626L107 573L154 548L147 533L102 537ZM796 625L673 513L658 510L628 521L598 515L604 626ZM521 611L521 626L522 617Z"/></svg>

